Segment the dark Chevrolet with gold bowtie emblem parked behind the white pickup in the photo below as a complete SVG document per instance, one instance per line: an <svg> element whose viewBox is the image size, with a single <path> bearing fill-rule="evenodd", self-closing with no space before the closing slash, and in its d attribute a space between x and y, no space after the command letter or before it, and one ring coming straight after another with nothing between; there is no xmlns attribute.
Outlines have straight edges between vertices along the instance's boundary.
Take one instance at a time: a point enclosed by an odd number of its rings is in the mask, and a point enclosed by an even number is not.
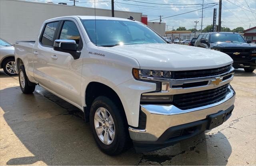
<svg viewBox="0 0 256 166"><path fill-rule="evenodd" d="M224 52L234 60L234 68L253 72L256 69L256 46L248 43L250 41L246 42L238 33L208 32L199 34L194 46Z"/></svg>

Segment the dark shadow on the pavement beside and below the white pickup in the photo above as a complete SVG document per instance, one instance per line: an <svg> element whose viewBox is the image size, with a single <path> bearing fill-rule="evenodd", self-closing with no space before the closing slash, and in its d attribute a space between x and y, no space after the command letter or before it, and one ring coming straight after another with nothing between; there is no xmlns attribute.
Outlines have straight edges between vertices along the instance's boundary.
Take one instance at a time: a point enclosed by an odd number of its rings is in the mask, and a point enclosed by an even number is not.
<svg viewBox="0 0 256 166"><path fill-rule="evenodd" d="M118 156L108 156L96 146L89 123L79 113L72 113L78 108L50 92L36 88L27 95L15 86L0 90L0 95L4 119L34 155L12 158L7 165L38 161L47 165L226 165L232 152L228 139L217 132L203 133L154 152L136 154L131 148Z"/></svg>

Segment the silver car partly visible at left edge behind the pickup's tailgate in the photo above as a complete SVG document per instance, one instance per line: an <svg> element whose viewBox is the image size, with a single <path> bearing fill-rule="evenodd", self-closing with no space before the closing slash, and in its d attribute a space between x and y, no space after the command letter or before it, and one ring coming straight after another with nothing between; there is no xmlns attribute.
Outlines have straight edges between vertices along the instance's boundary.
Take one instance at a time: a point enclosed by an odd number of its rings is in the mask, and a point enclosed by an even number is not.
<svg viewBox="0 0 256 166"><path fill-rule="evenodd" d="M0 38L0 68L10 76L16 75L14 46L2 38Z"/></svg>

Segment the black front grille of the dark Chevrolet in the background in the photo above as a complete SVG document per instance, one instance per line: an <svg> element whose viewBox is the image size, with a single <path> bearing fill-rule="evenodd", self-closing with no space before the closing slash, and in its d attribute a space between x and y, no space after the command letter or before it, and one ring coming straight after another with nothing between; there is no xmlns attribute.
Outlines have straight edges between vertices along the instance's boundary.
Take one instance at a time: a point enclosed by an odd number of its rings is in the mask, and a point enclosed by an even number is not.
<svg viewBox="0 0 256 166"><path fill-rule="evenodd" d="M250 49L222 49L221 52L228 54L233 60L250 60L251 58ZM234 52L240 54L234 55Z"/></svg>

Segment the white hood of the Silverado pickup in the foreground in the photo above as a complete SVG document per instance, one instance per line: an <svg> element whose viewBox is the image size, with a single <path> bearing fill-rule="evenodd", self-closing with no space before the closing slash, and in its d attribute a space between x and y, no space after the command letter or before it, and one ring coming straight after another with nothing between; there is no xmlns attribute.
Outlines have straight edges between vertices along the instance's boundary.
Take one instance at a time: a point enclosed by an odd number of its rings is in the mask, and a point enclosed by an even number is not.
<svg viewBox="0 0 256 166"><path fill-rule="evenodd" d="M104 50L135 58L142 69L199 70L218 68L233 62L227 54L178 44L133 44L101 47Z"/></svg>

